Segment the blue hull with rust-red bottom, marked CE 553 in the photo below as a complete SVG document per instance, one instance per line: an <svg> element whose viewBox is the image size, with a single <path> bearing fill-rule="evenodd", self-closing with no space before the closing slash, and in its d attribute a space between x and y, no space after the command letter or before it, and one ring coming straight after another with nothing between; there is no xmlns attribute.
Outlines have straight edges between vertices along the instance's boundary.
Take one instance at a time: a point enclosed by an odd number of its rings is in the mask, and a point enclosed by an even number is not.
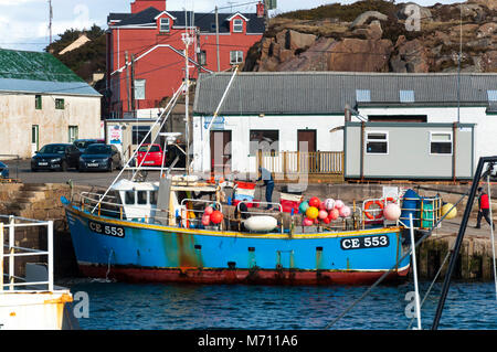
<svg viewBox="0 0 497 352"><path fill-rule="evenodd" d="M94 216L66 205L83 275L121 281L370 284L404 278L399 227L317 234L247 234Z"/></svg>

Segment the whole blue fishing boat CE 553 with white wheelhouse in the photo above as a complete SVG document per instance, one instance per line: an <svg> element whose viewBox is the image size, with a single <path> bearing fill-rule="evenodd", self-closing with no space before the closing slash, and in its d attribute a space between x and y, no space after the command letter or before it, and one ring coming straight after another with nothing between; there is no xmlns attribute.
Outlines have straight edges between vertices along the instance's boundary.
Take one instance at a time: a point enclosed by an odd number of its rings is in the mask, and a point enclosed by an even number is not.
<svg viewBox="0 0 497 352"><path fill-rule="evenodd" d="M336 220L335 228L309 226L279 204L277 211L260 206L241 214L241 203L220 202L223 185L180 179L125 180L105 199L87 192L77 201L63 199L82 274L123 281L331 285L409 273L409 256L398 263L409 244L396 223L368 225L351 216Z"/></svg>

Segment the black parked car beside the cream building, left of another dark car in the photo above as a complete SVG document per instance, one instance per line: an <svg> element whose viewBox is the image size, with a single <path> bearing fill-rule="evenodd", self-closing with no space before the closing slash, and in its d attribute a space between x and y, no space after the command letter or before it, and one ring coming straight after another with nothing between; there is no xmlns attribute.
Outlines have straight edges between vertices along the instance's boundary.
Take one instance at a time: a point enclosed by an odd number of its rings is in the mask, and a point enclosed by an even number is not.
<svg viewBox="0 0 497 352"><path fill-rule="evenodd" d="M31 171L78 168L80 150L70 143L46 145L31 158Z"/></svg>

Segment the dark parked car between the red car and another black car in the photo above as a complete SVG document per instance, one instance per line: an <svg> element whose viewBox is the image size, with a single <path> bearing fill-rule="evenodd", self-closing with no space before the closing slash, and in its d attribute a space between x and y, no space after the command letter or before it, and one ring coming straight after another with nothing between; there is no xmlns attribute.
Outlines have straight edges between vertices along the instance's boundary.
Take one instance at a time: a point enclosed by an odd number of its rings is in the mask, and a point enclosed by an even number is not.
<svg viewBox="0 0 497 352"><path fill-rule="evenodd" d="M80 157L80 171L106 170L112 172L121 168L120 152L112 145L91 145Z"/></svg>

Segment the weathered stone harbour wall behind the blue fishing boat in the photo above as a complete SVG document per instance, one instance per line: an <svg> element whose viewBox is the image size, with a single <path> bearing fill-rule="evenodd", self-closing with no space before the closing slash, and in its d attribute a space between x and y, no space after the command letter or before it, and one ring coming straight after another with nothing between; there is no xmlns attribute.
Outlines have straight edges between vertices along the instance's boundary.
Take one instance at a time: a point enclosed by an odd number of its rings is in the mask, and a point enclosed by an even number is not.
<svg viewBox="0 0 497 352"><path fill-rule="evenodd" d="M348 204L357 201L357 206L366 198L381 198L383 185L404 186L415 190L420 195L432 196L440 194L445 202L455 203L462 194L466 193L469 184L311 184L304 191L305 199L319 196L320 199L341 199ZM495 188L495 190L494 190ZM54 273L55 277L78 276L74 248L67 228L61 196L71 199L72 192L97 191L97 188L75 185L73 189L61 183L4 183L0 184L0 214L15 215L27 218L42 221L54 221ZM101 189L102 190L102 189ZM287 191L276 186L273 199L278 200L279 191ZM497 194L497 186L491 186L491 193ZM264 195L264 188L256 191L256 196ZM466 206L465 200L457 206L462 214ZM472 217L476 218L476 207L473 206ZM493 206L497 214L497 202ZM457 226L442 227L434 231L432 236L425 239L416 252L419 275L423 279L432 279L438 271L448 250L453 248ZM46 249L43 246L46 241L46 232L36 230L19 231L15 236L15 245L29 248ZM442 268L441 276L444 277L448 260ZM15 274L23 275L23 263L17 263ZM466 233L461 255L456 265L455 278L462 280L491 280L493 257L491 243L488 232L480 234Z"/></svg>

